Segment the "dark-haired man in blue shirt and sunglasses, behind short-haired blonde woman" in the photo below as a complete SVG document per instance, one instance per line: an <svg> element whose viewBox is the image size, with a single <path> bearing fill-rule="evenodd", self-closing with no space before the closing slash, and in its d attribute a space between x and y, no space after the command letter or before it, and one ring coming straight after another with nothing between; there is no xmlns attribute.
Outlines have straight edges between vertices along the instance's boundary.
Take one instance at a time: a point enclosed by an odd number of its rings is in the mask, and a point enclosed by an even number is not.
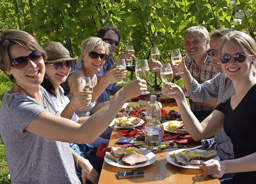
<svg viewBox="0 0 256 184"><path fill-rule="evenodd" d="M114 55L119 43L120 43L120 31L116 27L112 25L107 25L102 27L98 32L98 37L102 38L103 41L109 43L111 45L111 51L108 55L108 59L102 66L102 69L96 73L98 81L100 81L108 72L111 72L116 68L114 63L114 59L112 56ZM132 62L135 59L134 51L128 50L122 53L120 59L125 59L126 63ZM81 61L79 60L76 63L76 70L82 67ZM112 71L114 72L114 71ZM99 96L98 103L107 102L110 100L110 95L114 95L122 86L116 86L116 82L108 85L108 87L104 90L104 92Z"/></svg>

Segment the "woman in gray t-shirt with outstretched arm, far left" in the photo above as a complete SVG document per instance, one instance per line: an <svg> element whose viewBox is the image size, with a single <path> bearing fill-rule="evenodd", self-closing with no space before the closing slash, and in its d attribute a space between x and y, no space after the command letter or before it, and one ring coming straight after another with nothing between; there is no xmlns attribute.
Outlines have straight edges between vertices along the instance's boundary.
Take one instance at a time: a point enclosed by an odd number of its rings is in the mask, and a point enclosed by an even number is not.
<svg viewBox="0 0 256 184"><path fill-rule="evenodd" d="M0 69L14 85L2 100L0 135L12 183L81 183L68 143L92 143L128 98L146 91L146 81L130 82L113 96L102 112L78 124L60 117L47 92L40 87L45 73L44 60L46 53L30 34L14 29L2 32ZM76 162L80 166L79 158Z"/></svg>

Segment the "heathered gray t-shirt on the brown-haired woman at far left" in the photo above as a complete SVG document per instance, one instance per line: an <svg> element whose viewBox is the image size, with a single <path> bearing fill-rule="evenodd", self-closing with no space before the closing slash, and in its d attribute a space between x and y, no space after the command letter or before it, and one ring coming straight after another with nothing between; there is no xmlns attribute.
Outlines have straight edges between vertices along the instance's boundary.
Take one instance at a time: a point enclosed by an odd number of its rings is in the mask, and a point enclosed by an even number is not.
<svg viewBox="0 0 256 184"><path fill-rule="evenodd" d="M80 184L68 143L40 137L24 128L44 111L59 115L44 88L44 106L22 93L4 95L0 135L12 184Z"/></svg>

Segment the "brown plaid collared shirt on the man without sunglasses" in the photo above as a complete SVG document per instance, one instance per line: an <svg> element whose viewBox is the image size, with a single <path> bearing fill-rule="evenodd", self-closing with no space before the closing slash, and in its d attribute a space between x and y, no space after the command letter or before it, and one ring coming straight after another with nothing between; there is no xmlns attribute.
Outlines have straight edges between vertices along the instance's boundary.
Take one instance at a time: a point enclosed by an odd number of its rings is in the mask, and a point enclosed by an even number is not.
<svg viewBox="0 0 256 184"><path fill-rule="evenodd" d="M218 74L218 71L212 65L212 62L208 55L206 55L206 58L202 63L202 67L200 71L198 71L196 63L194 62L194 59L192 59L188 55L184 56L184 61L192 77L195 80L197 80L199 84L202 84L203 82L214 78ZM191 99L189 99L189 103L193 113L197 111L213 111L214 110L214 108L202 106L201 104L194 102Z"/></svg>

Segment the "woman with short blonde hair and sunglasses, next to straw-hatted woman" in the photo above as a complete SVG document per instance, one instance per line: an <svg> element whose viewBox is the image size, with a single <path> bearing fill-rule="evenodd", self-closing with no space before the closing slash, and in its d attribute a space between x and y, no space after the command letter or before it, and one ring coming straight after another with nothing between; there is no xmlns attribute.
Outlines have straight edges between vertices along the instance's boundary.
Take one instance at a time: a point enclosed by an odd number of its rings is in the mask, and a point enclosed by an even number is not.
<svg viewBox="0 0 256 184"><path fill-rule="evenodd" d="M74 94L82 91L81 78L90 76L93 83L92 103L89 108L76 110L78 117L89 116L90 112L97 112L106 102L96 105L96 100L109 84L121 80L127 73L125 68L114 69L115 74L107 74L100 82L97 82L96 72L100 71L105 60L110 53L110 45L102 41L99 37L88 37L81 44L82 68L70 72L68 81L70 83L70 94L72 99ZM97 84L97 85L96 85Z"/></svg>

